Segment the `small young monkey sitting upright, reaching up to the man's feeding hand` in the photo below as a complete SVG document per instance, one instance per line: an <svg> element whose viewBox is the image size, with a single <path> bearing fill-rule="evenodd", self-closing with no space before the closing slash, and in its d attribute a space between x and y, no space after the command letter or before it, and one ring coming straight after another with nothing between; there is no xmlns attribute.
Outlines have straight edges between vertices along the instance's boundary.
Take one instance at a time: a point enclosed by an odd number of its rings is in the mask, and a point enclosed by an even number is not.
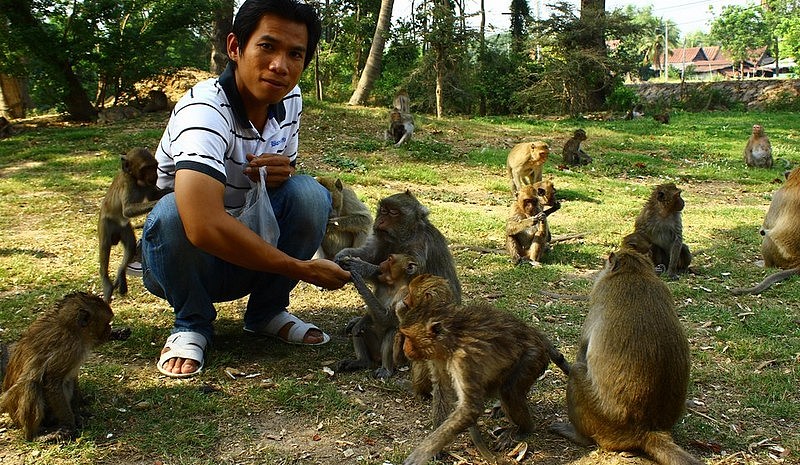
<svg viewBox="0 0 800 465"><path fill-rule="evenodd" d="M361 270L366 271L356 271L358 266L365 266ZM361 370L380 363L375 376L386 379L394 373L395 365L404 361L402 346L398 346L395 340L398 321L394 308L402 300L400 291L417 274L419 266L408 255L389 255L378 265L377 281L381 285L376 286L373 294L364 278L375 272L374 266L366 262L350 263L353 284L367 304L367 314L348 325L346 332L353 338L356 359L340 361L338 371Z"/></svg>

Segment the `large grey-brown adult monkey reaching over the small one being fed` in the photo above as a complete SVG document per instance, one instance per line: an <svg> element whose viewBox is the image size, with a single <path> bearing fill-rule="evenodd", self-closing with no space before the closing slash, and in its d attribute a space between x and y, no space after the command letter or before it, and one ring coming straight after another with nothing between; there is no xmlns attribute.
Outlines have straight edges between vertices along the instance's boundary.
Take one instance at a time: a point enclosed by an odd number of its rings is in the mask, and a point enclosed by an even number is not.
<svg viewBox="0 0 800 465"><path fill-rule="evenodd" d="M428 214L428 209L411 191L390 195L378 202L372 234L367 242L361 247L340 251L334 260L347 269L347 262L354 258L378 264L393 253L408 255L417 264L418 273L444 277L453 288L455 302L461 303L461 283L456 275L453 255L447 240L430 222ZM377 287L382 285L376 284ZM376 294L379 292L382 291L376 291ZM428 397L432 386L425 365L412 364L411 378L415 394Z"/></svg>

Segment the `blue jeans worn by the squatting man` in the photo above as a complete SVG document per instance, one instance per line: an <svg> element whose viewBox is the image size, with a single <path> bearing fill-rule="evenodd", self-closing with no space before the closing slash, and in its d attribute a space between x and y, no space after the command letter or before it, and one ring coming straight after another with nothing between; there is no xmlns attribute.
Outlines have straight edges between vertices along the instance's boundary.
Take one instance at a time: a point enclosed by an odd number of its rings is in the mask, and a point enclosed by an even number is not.
<svg viewBox="0 0 800 465"><path fill-rule="evenodd" d="M292 176L268 191L281 231L278 248L297 259L310 259L325 235L330 192L306 175ZM195 331L208 341L214 335L215 302L249 294L244 326L259 329L286 310L297 285L297 280L242 268L192 245L174 194L159 200L145 220L142 271L147 290L166 299L175 311L172 332Z"/></svg>

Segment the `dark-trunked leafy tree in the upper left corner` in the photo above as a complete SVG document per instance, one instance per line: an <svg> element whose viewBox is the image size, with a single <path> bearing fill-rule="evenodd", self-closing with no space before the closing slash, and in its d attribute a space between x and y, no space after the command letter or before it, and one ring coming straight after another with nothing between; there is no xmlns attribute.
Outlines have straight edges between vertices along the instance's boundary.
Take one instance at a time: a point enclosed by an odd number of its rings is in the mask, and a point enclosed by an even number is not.
<svg viewBox="0 0 800 465"><path fill-rule="evenodd" d="M13 47L27 52L32 95L70 116L96 117L133 84L173 66L208 66L216 0L0 0Z"/></svg>

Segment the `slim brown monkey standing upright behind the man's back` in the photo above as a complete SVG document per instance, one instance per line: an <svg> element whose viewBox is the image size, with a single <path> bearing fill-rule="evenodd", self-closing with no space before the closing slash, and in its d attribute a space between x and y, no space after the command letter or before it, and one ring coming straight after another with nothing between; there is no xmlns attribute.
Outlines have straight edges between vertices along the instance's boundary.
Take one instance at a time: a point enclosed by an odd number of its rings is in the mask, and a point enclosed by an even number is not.
<svg viewBox="0 0 800 465"><path fill-rule="evenodd" d="M103 299L111 301L114 289L120 294L128 292L125 268L136 255L136 235L131 218L148 213L156 201L171 190L156 187L158 163L149 150L137 147L121 157L121 167L100 205L97 237L100 243L100 280L103 282ZM111 247L122 242L124 255L117 268L114 283L108 277L108 259Z"/></svg>

